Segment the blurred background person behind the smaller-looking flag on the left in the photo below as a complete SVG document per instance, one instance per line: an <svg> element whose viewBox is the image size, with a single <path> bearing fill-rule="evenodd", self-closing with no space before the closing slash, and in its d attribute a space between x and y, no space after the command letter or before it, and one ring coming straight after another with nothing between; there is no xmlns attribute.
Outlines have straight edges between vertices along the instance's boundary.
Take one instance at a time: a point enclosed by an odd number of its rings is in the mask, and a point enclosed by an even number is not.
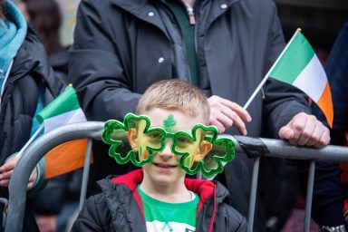
<svg viewBox="0 0 348 232"><path fill-rule="evenodd" d="M43 40L56 78L67 82L69 56L61 43L60 6L55 0L22 0L18 8ZM67 220L77 212L81 185L82 169L77 169L50 179L45 188L30 199L41 232L67 230Z"/></svg>

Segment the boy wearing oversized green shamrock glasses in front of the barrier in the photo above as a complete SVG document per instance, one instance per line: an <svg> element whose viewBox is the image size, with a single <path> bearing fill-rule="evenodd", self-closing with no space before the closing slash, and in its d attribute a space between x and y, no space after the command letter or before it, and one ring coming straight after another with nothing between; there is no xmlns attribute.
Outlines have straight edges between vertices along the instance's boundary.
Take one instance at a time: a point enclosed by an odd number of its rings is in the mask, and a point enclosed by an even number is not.
<svg viewBox="0 0 348 232"><path fill-rule="evenodd" d="M102 193L86 201L72 231L247 231L246 218L224 202L227 189L185 179L199 168L211 173L204 161L213 141L205 135L215 128L202 125L209 118L203 92L179 80L157 82L142 95L137 114L127 115L124 125L107 122L102 139L117 144L110 150L116 161L142 169L98 181ZM127 131L132 150L125 158L108 137L113 123Z"/></svg>

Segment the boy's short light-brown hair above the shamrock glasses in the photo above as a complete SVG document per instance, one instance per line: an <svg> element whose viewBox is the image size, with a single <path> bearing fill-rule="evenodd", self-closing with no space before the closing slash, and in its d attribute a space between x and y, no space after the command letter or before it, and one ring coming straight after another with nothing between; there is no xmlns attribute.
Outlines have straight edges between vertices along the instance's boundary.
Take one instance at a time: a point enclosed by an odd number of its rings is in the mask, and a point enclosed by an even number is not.
<svg viewBox="0 0 348 232"><path fill-rule="evenodd" d="M209 121L210 108L206 95L196 86L179 79L152 84L140 98L136 113L146 114L154 108L183 111L190 118L201 118L204 124Z"/></svg>

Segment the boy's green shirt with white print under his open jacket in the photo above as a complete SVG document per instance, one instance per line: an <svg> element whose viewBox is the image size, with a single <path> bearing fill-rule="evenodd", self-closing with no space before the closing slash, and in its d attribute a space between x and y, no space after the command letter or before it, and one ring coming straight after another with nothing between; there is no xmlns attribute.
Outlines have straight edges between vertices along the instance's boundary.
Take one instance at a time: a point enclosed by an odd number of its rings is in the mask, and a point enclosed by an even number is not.
<svg viewBox="0 0 348 232"><path fill-rule="evenodd" d="M151 198L137 187L144 208L148 232L196 231L196 215L199 202L197 193L184 203L167 203Z"/></svg>

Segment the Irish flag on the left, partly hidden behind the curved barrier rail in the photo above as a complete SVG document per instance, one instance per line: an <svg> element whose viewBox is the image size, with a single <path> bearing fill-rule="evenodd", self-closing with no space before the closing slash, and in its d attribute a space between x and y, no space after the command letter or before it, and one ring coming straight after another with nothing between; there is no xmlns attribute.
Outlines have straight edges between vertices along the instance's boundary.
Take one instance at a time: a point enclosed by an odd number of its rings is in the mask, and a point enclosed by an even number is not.
<svg viewBox="0 0 348 232"><path fill-rule="evenodd" d="M69 123L87 121L71 85L38 112L36 119L43 123L44 133ZM86 145L87 139L72 140L50 150L44 156L45 178L83 167Z"/></svg>

